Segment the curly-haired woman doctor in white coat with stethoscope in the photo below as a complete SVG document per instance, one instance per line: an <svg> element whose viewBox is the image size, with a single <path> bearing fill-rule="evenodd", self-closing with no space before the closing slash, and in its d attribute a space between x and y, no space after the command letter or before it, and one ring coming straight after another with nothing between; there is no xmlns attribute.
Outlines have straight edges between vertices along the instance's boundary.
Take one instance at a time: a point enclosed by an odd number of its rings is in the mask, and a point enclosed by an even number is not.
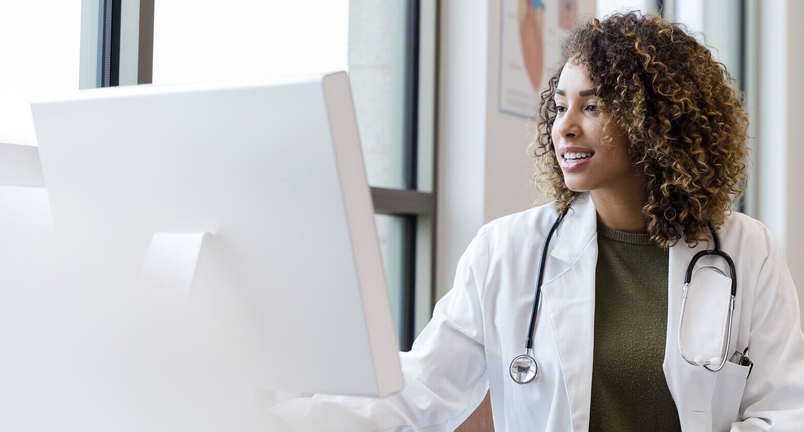
<svg viewBox="0 0 804 432"><path fill-rule="evenodd" d="M487 390L498 431L804 430L796 289L729 210L748 119L728 71L655 14L593 19L562 52L531 145L552 202L478 231L402 392L287 401L290 430L454 430ZM714 249L732 263L694 260Z"/></svg>

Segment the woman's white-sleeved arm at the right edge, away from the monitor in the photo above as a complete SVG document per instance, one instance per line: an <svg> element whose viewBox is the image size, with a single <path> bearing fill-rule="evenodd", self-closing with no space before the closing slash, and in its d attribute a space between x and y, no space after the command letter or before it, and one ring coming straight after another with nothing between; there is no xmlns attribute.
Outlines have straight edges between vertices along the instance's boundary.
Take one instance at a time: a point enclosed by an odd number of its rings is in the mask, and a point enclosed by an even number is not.
<svg viewBox="0 0 804 432"><path fill-rule="evenodd" d="M754 365L740 404L745 420L732 423L732 432L802 430L804 334L796 287L775 240L757 282L749 347Z"/></svg>

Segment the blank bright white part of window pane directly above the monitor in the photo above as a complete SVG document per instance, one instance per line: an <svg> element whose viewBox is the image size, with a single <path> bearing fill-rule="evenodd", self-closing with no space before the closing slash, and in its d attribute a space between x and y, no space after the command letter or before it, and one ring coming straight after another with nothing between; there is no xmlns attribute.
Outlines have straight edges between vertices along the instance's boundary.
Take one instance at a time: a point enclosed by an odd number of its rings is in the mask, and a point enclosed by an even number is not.
<svg viewBox="0 0 804 432"><path fill-rule="evenodd" d="M154 84L347 69L349 1L154 8Z"/></svg>

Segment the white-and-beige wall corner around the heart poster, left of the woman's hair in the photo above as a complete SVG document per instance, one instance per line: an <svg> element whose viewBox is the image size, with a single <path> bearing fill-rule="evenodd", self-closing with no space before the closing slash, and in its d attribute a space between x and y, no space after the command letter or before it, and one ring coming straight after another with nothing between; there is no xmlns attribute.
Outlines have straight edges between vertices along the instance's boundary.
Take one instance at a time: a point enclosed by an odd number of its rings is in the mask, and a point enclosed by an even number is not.
<svg viewBox="0 0 804 432"><path fill-rule="evenodd" d="M594 0L578 4L594 14ZM499 12L500 0L441 2L437 299L480 227L538 198L527 121L498 112Z"/></svg>

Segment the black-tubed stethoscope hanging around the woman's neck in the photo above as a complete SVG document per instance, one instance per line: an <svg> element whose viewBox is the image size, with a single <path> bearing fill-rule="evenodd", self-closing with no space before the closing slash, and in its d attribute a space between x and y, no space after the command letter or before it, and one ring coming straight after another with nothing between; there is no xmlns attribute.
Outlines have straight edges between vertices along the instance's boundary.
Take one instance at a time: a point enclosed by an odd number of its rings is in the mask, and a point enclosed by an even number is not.
<svg viewBox="0 0 804 432"><path fill-rule="evenodd" d="M568 209L567 209L568 210ZM556 228L559 226L562 220L564 220L564 215L567 214L567 210L564 210L558 218L556 218L556 222L553 223L552 228L548 234L547 240L544 242L544 246L542 247L542 257L541 261L539 262L539 276L536 279L536 294L533 301L533 310L531 311L531 323L527 328L527 340L525 340L525 353L521 356L515 357L513 361L511 361L511 379L514 380L517 384L527 384L535 379L539 375L539 365L536 363L535 359L531 355L533 353L533 328L536 324L536 312L539 310L539 295L541 295L542 291L542 277L544 276L544 262L547 260L548 255L548 247L550 245L550 240L552 239L553 233L556 232ZM732 258L728 256L727 253L724 251L720 251L720 241L717 238L717 234L715 230L712 230L712 227L709 227L709 230L712 232L712 239L715 243L715 249L713 251L699 251L695 256L692 257L689 265L687 266L687 274L684 276L684 290L683 295L681 298L681 316L679 316L679 334L678 334L678 344L679 344L679 353L681 353L681 357L683 357L684 361L687 361L690 365L699 365L704 366L704 369L707 369L709 372L717 372L723 365L725 364L724 359L728 353L728 344L731 343L732 337L732 316L734 315L734 297L737 293L737 281L736 281L736 272L734 271L734 261ZM718 271L721 275L724 275L724 272L715 266L703 266L700 267L695 273L692 272L692 269L695 267L695 263L698 262L699 259L703 258L706 255L717 255L722 257L728 263L728 271L731 274L732 279L732 295L731 299L729 300L728 304L728 318L726 320L725 325L725 337L724 337L724 344L721 348L720 357L714 357L708 361L703 361L701 356L695 356L695 360L687 357L687 354L684 353L683 348L681 348L681 325L684 320L684 309L687 307L687 291L689 290L690 282L692 280L692 276L697 274L704 268L711 268L715 271ZM728 277L728 276L727 276ZM715 369L710 368L710 365L715 365Z"/></svg>

